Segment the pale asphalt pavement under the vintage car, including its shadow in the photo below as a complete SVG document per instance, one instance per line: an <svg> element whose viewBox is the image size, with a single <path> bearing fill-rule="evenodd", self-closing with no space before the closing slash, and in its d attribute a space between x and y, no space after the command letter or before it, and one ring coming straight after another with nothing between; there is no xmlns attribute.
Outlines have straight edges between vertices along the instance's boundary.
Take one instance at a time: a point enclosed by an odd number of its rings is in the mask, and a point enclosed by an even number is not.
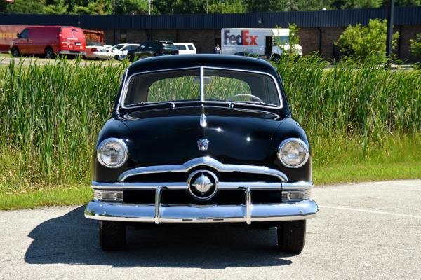
<svg viewBox="0 0 421 280"><path fill-rule="evenodd" d="M105 253L83 207L0 211L0 279L421 279L421 180L318 186L300 255L275 230L128 230Z"/></svg>

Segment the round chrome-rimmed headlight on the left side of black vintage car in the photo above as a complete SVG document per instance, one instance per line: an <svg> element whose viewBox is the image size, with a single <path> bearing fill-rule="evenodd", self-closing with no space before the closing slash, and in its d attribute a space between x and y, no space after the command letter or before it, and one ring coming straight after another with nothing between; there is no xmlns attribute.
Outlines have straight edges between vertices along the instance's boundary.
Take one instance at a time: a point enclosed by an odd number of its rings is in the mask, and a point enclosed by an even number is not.
<svg viewBox="0 0 421 280"><path fill-rule="evenodd" d="M128 148L121 139L108 138L100 143L97 158L101 165L109 168L118 168L126 162Z"/></svg>

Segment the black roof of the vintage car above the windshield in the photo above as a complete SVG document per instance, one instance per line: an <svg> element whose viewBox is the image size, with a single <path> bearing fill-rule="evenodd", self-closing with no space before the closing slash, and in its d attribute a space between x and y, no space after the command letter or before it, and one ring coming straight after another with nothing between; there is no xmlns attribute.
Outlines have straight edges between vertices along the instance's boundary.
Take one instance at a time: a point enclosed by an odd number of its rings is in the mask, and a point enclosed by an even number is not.
<svg viewBox="0 0 421 280"><path fill-rule="evenodd" d="M263 59L241 57L238 55L164 55L140 59L128 67L128 76L145 71L159 71L163 69L183 69L208 66L225 69L243 69L269 73L278 77L274 67Z"/></svg>

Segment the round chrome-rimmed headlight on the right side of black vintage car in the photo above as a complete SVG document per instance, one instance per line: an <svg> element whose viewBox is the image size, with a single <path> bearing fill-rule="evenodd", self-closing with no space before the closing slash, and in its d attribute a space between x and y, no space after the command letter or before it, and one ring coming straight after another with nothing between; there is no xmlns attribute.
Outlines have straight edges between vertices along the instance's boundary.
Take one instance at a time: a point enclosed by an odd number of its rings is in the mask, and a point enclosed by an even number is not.
<svg viewBox="0 0 421 280"><path fill-rule="evenodd" d="M309 148L301 139L289 138L279 145L278 158L286 167L302 167L309 158Z"/></svg>

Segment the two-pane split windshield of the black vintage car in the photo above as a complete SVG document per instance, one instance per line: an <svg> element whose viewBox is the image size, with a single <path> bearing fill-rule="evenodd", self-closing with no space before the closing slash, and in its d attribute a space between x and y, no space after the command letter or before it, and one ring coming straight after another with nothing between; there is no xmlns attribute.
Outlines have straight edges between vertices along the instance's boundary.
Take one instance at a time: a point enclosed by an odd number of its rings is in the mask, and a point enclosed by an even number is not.
<svg viewBox="0 0 421 280"><path fill-rule="evenodd" d="M252 71L207 68L132 76L123 106L200 101L280 106L279 91L272 76Z"/></svg>

